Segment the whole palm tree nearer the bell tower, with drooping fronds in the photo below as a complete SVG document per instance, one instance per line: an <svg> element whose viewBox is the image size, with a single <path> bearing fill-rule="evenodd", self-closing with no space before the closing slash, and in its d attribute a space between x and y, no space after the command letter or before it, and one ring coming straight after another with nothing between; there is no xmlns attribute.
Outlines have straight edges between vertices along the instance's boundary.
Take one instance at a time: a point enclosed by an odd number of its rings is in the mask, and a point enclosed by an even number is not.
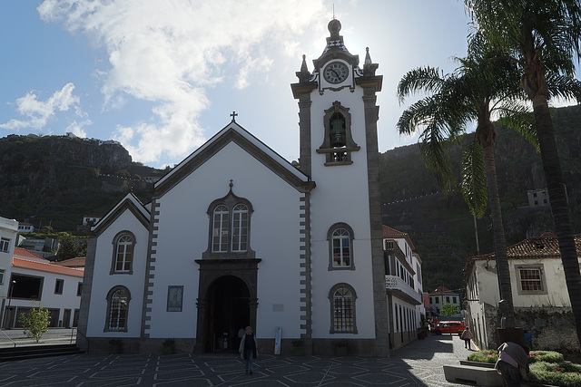
<svg viewBox="0 0 581 387"><path fill-rule="evenodd" d="M497 131L491 118L498 116L531 140L534 136L530 136L532 128L526 120L514 63L495 59L499 53L483 51L479 34L472 36L469 47L467 58L456 58L460 65L454 73L444 75L438 68L423 67L404 75L398 87L400 102L415 92L428 92L428 96L409 106L397 126L400 133L421 131L420 149L426 164L436 172L440 185L446 186L452 181L448 145L461 138L468 123L477 122L474 141L463 152L462 194L478 218L484 215L489 201L500 298L505 300L506 316L510 317L514 307L493 150Z"/></svg>

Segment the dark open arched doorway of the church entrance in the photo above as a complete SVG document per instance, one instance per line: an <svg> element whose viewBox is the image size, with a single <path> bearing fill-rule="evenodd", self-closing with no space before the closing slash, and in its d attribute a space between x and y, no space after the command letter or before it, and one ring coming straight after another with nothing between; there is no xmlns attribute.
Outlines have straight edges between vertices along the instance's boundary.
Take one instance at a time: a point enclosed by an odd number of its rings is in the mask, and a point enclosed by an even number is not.
<svg viewBox="0 0 581 387"><path fill-rule="evenodd" d="M236 276L221 276L207 292L205 352L238 351L238 331L251 324L250 291Z"/></svg>

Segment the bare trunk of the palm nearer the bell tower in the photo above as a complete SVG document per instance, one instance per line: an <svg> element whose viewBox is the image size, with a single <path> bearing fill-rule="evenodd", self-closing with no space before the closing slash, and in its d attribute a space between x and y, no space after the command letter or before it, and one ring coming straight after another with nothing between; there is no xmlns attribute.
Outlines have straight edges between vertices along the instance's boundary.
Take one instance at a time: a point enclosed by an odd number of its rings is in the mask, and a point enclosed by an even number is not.
<svg viewBox="0 0 581 387"><path fill-rule="evenodd" d="M488 124L493 125L492 122ZM494 150L491 144L488 145L482 142L480 144L484 150L484 165L487 170L488 202L490 204L490 213L492 214L492 231L494 233L495 255L497 257L498 288L500 289L500 299L505 300L507 306L507 314L503 313L503 317L514 316L512 286L510 285L510 270L507 260L507 238L505 237L505 227L502 222L502 211L500 210Z"/></svg>

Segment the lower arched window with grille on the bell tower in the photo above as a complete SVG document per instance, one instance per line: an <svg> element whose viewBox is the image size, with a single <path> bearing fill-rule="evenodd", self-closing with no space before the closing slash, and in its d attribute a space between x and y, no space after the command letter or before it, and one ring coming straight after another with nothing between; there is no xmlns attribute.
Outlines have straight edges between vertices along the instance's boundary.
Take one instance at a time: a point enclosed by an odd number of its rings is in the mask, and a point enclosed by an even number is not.
<svg viewBox="0 0 581 387"><path fill-rule="evenodd" d="M355 290L348 284L338 284L330 290L331 334L357 334L355 324Z"/></svg>

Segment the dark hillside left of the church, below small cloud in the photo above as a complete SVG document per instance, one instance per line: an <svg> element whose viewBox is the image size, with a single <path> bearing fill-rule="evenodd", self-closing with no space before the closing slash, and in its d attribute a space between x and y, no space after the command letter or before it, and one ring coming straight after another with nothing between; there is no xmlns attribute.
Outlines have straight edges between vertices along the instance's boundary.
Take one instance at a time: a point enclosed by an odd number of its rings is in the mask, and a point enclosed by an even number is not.
<svg viewBox="0 0 581 387"><path fill-rule="evenodd" d="M0 216L75 231L85 215L104 215L130 189L149 201L142 177L163 173L134 163L115 143L11 135L0 139Z"/></svg>

